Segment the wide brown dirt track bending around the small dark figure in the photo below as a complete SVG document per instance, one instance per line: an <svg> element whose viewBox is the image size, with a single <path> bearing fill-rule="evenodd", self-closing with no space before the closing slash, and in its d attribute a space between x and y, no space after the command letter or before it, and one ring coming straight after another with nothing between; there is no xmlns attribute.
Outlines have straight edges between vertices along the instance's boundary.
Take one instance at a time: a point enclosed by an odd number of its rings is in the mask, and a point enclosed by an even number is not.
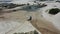
<svg viewBox="0 0 60 34"><path fill-rule="evenodd" d="M26 16L32 16L30 21L37 30L42 34L60 34L59 31L52 25L51 22L46 21L42 18L39 12L27 12L27 11L17 11L13 13L6 13L3 15L3 20L17 20L17 21L27 21Z"/></svg>

